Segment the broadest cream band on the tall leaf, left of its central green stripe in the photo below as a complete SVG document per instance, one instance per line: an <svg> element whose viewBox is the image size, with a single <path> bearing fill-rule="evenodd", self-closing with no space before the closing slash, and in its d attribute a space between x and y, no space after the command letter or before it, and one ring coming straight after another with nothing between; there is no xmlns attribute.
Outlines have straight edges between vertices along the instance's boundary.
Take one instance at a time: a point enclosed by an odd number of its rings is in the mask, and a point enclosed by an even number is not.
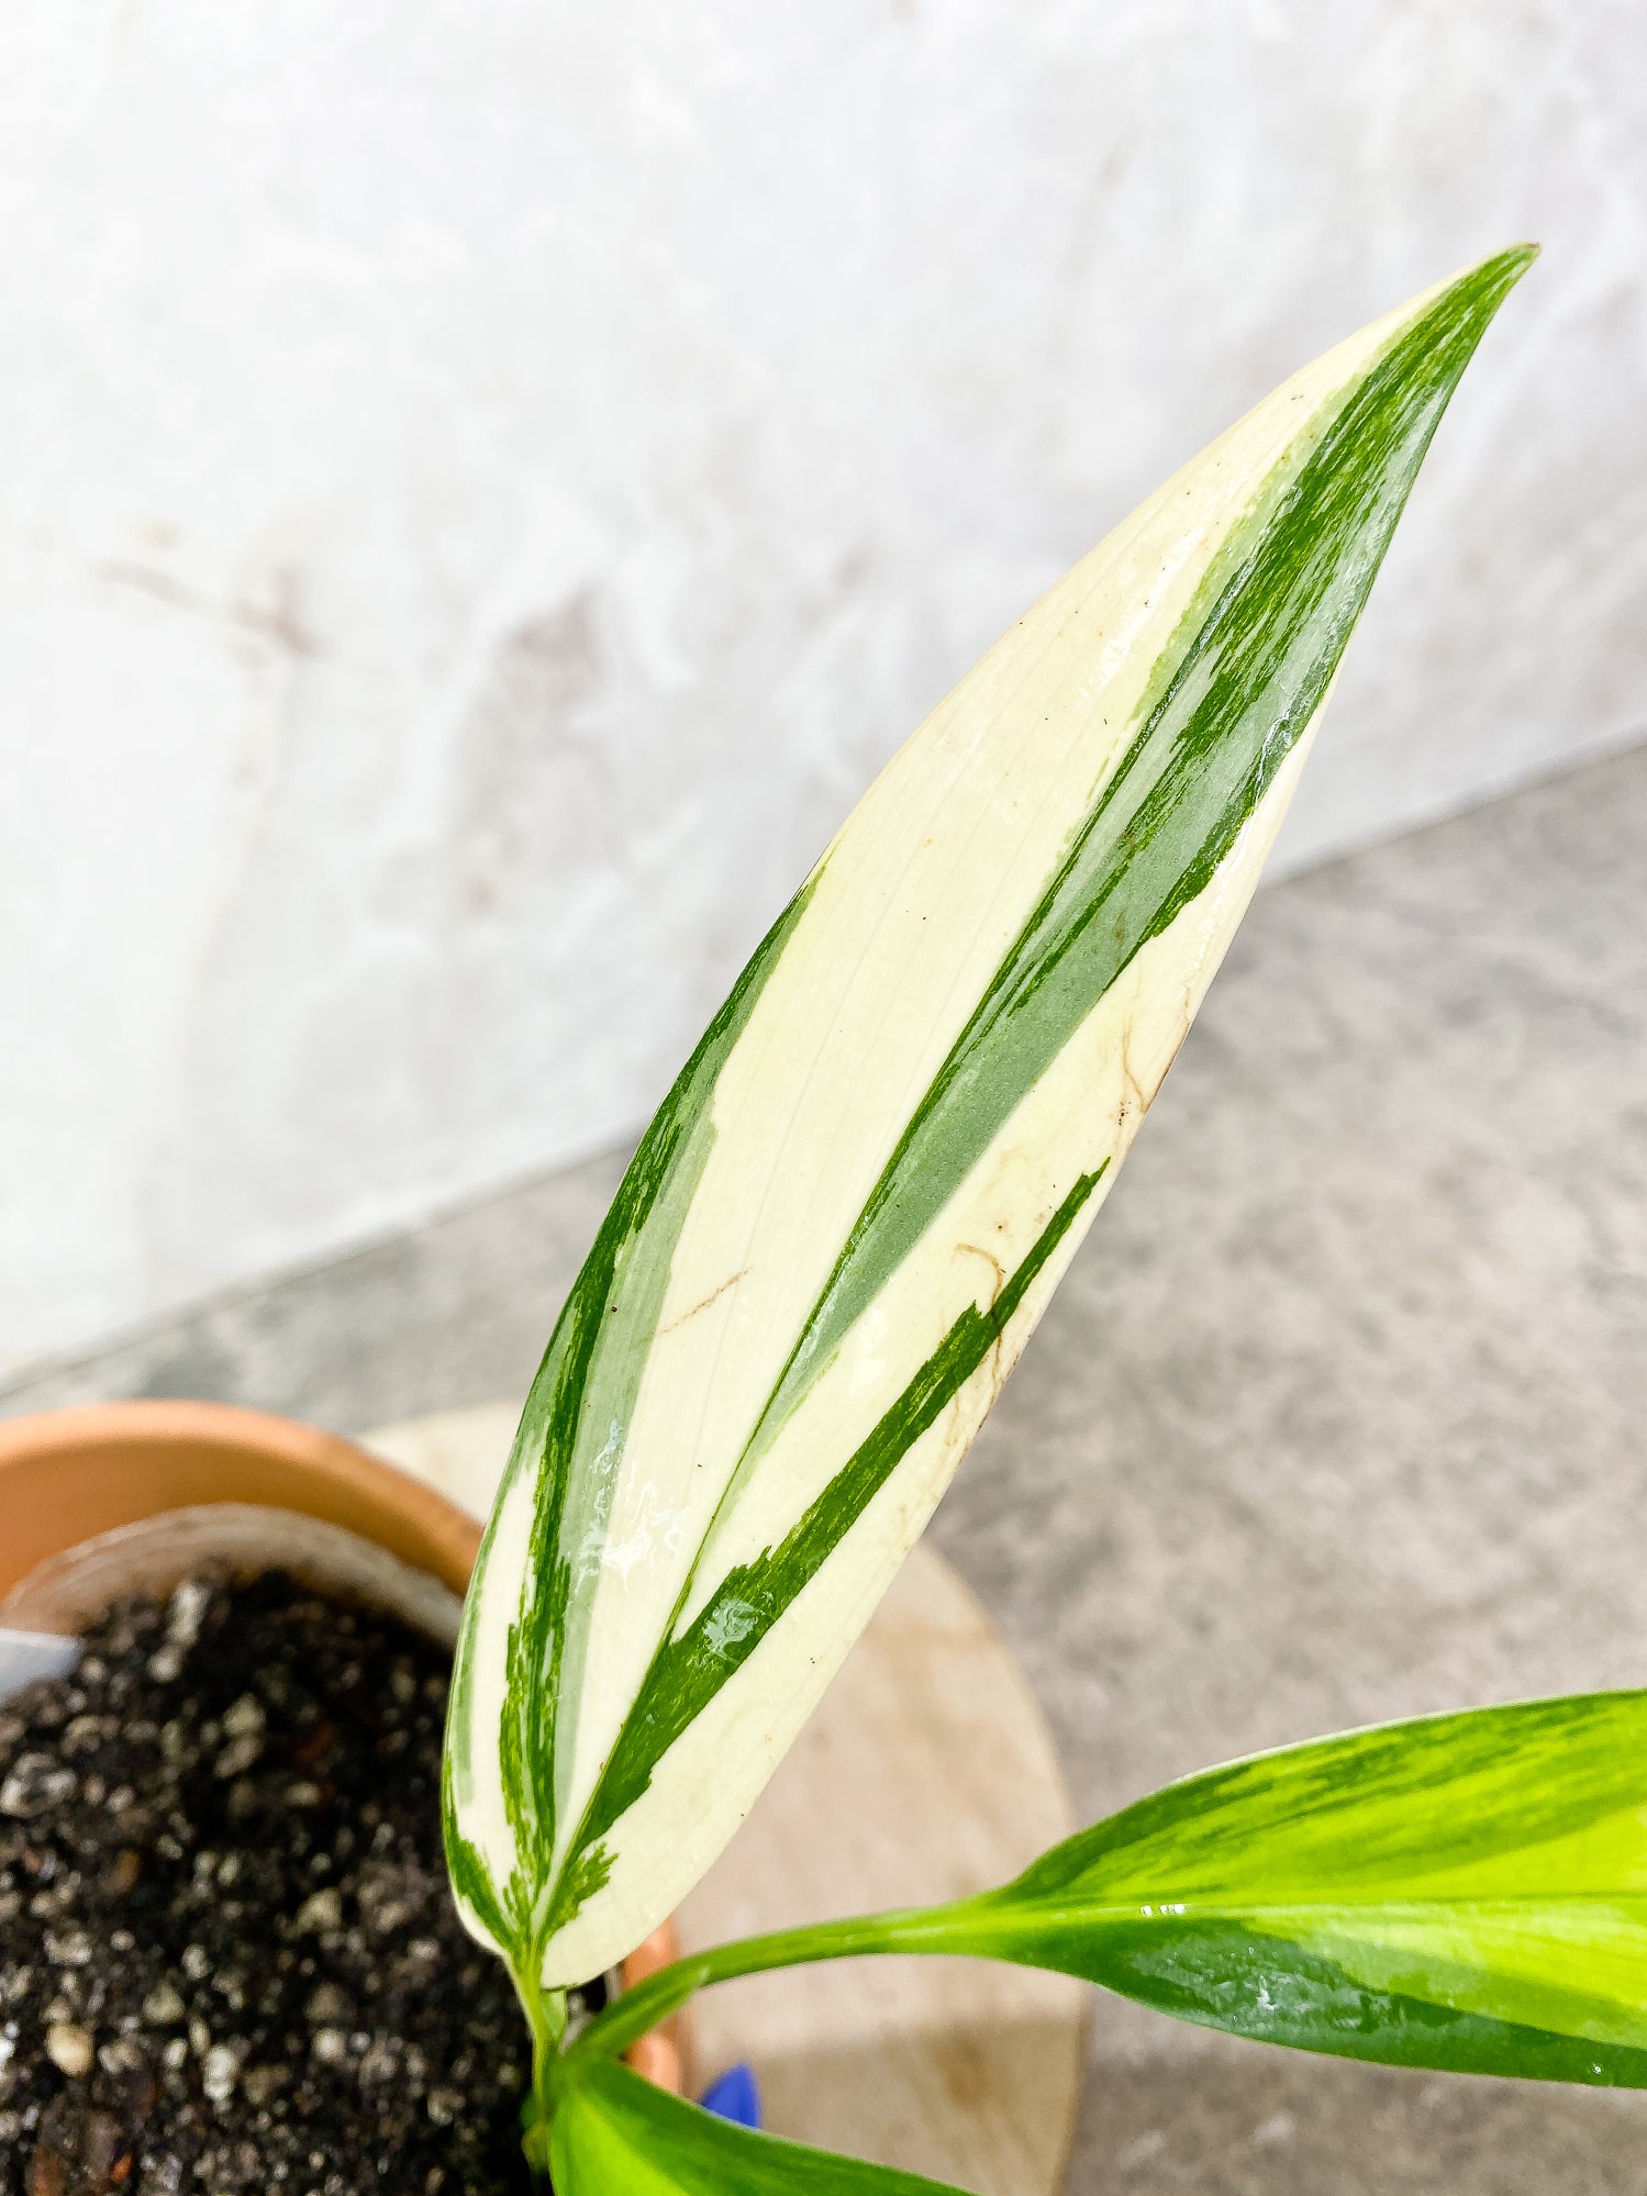
<svg viewBox="0 0 1647 2196"><path fill-rule="evenodd" d="M841 1243L1074 819L1131 747L1197 589L1232 529L1302 461L1313 419L1331 417L1432 294L1285 382L1076 564L911 736L826 852L718 1078L714 1149L632 1419L613 1430L621 1474L562 1838ZM922 1271L933 1258L946 1267L964 1239L944 1223ZM883 1322L865 1320L905 1377L942 1333L949 1300L953 1289L940 1289L914 1329L889 1307Z"/></svg>

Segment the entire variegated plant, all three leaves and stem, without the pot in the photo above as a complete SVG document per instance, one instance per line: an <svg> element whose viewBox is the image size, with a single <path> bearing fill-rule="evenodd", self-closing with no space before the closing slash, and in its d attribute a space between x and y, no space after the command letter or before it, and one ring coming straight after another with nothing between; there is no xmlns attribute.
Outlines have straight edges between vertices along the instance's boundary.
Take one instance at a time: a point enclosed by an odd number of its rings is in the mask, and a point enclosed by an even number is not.
<svg viewBox="0 0 1647 2196"><path fill-rule="evenodd" d="M641 1140L527 1399L446 1715L457 1908L525 2009L525 2156L560 2196L935 2187L619 2058L707 1983L859 1952L1039 1963L1315 2051L1647 2082L1634 1693L1234 1763L984 1897L580 2001L727 1845L1008 1377L1528 259L1304 369L1030 610L865 795Z"/></svg>

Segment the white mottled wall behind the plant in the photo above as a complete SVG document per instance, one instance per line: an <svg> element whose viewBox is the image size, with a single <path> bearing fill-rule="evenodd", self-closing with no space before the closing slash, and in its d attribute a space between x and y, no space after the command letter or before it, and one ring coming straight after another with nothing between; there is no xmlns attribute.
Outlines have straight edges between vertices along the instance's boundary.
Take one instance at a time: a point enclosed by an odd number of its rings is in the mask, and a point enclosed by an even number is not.
<svg viewBox="0 0 1647 2196"><path fill-rule="evenodd" d="M11 0L0 1364L630 1129L979 648L1522 235L1289 859L1638 733L1645 206L1629 0Z"/></svg>

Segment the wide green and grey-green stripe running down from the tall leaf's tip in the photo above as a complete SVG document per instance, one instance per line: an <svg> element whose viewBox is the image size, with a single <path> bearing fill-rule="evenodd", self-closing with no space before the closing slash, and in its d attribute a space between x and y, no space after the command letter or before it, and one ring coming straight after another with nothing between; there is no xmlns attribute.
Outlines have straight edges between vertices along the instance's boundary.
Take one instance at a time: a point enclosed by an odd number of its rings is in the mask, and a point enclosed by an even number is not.
<svg viewBox="0 0 1647 2196"><path fill-rule="evenodd" d="M1142 944L1208 887L1320 707L1430 437L1528 253L1476 268L1311 422L1162 652L1159 692L841 1247L764 1432Z"/></svg>

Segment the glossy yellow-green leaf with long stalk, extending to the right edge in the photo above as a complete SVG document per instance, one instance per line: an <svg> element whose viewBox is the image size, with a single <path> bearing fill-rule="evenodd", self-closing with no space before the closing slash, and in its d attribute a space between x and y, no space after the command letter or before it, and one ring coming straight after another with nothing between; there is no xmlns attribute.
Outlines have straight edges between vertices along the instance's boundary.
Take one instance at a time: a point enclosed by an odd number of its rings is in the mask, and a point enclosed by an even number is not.
<svg viewBox="0 0 1647 2196"><path fill-rule="evenodd" d="M1056 1968L1340 2058L1647 2088L1647 1693L1208 1770L984 1897L681 1961L578 2049L621 2049L709 1981L852 1952Z"/></svg>

